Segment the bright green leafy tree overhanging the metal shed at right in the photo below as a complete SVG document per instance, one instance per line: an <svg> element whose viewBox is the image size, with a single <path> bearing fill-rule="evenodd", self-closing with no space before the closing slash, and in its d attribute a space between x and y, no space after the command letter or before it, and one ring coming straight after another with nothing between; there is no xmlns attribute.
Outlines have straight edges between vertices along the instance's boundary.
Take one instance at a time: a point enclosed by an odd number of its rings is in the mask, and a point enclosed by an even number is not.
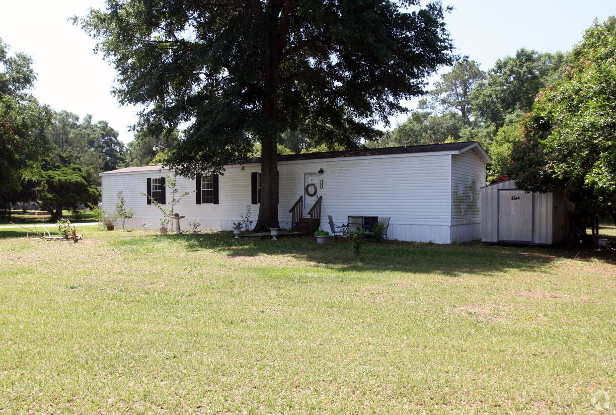
<svg viewBox="0 0 616 415"><path fill-rule="evenodd" d="M519 177L527 190L567 185L578 202L608 209L616 223L615 56L616 18L595 22L573 48L564 81L537 97L524 143L533 144L538 167ZM513 158L528 164L520 147Z"/></svg>

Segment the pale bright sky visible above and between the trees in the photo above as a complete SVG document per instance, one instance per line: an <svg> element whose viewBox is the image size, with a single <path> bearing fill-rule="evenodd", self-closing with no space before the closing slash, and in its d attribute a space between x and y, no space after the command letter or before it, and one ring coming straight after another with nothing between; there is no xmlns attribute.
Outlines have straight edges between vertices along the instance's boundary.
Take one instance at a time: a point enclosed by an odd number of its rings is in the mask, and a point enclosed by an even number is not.
<svg viewBox="0 0 616 415"><path fill-rule="evenodd" d="M572 49L595 18L603 22L616 15L614 0L449 0L455 9L445 22L456 53L468 55L483 70L496 59L514 55L525 47L539 52ZM91 114L120 132L120 140L132 140L129 126L136 123L136 107L120 107L111 95L115 70L93 52L94 39L67 21L83 16L100 0L0 0L0 39L9 53L25 52L34 59L38 73L33 94L54 110L80 117ZM444 68L440 73L447 72ZM438 79L438 75L431 78ZM415 102L408 102L413 108ZM392 127L408 115L392 118Z"/></svg>

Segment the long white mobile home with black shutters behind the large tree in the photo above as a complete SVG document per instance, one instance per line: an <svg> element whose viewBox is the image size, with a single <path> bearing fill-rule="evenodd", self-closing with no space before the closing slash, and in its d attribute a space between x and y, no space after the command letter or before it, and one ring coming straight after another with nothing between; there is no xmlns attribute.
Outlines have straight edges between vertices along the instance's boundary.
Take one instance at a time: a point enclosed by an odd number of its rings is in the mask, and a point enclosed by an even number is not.
<svg viewBox="0 0 616 415"><path fill-rule="evenodd" d="M331 151L278 157L278 216L291 228L291 207L302 196L304 216L322 198L321 228L329 230L327 215L336 224L347 216L390 217L391 239L459 243L481 236L480 187L485 184L487 153L476 142ZM198 219L202 230L230 230L251 205L259 212L261 160L225 166L224 175L177 178L179 193L193 191L175 211L187 221ZM102 204L113 211L123 190L134 217L128 227L142 222L158 227L160 211L148 193L162 203L171 197L164 186L168 169L161 166L127 167L101 173Z"/></svg>

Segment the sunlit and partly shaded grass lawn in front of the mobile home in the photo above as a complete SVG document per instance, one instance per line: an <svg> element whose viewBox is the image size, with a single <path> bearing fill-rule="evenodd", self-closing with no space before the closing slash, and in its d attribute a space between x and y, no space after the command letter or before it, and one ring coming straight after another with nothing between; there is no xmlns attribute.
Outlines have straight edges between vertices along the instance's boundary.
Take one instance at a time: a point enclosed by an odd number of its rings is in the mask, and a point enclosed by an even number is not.
<svg viewBox="0 0 616 415"><path fill-rule="evenodd" d="M612 249L24 232L0 413L615 413Z"/></svg>

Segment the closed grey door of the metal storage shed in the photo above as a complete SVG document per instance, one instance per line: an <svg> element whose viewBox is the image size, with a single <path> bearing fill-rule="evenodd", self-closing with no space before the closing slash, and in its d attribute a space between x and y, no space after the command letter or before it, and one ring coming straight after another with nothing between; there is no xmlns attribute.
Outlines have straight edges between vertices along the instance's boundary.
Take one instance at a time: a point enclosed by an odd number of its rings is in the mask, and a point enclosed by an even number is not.
<svg viewBox="0 0 616 415"><path fill-rule="evenodd" d="M498 241L533 240L533 194L524 190L498 191Z"/></svg>

